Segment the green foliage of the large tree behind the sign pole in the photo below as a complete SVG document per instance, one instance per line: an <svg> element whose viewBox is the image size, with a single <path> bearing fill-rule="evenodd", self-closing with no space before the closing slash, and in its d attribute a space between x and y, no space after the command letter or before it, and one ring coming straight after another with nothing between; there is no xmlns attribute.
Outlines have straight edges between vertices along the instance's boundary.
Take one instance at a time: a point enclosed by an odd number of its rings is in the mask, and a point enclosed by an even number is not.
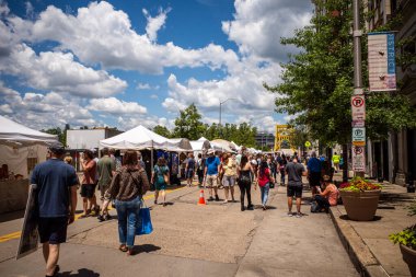
<svg viewBox="0 0 416 277"><path fill-rule="evenodd" d="M282 38L300 49L282 64L281 83L264 86L278 94L276 112L297 115L290 124L307 126L312 140L324 145L351 140L350 96L354 91L353 21L349 1L316 0L311 25ZM332 11L336 11L335 13ZM365 38L365 37L363 37ZM362 72L367 83L367 39L362 39ZM368 96L367 136L385 138L391 130L416 125L416 111L404 95L372 93Z"/></svg>

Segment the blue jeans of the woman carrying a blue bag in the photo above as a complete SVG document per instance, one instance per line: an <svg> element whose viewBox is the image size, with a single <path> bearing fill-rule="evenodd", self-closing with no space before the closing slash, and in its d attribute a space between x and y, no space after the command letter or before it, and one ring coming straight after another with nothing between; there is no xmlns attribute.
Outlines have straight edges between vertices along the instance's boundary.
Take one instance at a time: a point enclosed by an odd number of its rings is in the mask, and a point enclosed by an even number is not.
<svg viewBox="0 0 416 277"><path fill-rule="evenodd" d="M141 196L130 201L116 200L118 239L120 244L126 244L128 247L135 245L136 224L139 219L140 208Z"/></svg>

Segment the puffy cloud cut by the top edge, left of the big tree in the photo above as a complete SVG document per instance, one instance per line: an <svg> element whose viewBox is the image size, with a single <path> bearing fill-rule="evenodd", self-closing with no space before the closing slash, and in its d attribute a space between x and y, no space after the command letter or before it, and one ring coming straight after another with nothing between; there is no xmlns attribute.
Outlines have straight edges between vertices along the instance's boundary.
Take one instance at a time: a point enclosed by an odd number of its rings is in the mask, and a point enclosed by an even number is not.
<svg viewBox="0 0 416 277"><path fill-rule="evenodd" d="M280 38L307 25L313 10L311 1L293 0L235 0L234 7L234 20L222 22L222 31L242 54L273 60L287 59L293 48L285 48Z"/></svg>

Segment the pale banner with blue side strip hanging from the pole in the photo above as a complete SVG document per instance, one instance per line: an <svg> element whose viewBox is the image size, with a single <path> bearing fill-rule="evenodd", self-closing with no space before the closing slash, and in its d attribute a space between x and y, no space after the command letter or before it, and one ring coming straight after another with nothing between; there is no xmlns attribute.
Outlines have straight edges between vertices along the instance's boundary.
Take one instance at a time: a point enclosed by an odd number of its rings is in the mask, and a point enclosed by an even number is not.
<svg viewBox="0 0 416 277"><path fill-rule="evenodd" d="M368 34L368 71L370 91L395 91L394 34L390 32Z"/></svg>

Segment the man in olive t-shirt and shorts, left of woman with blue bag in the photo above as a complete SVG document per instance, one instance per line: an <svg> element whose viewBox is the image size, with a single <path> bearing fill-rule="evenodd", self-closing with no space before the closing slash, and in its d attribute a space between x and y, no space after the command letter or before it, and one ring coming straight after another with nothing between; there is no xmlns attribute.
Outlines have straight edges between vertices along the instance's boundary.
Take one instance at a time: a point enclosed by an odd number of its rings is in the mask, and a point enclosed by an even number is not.
<svg viewBox="0 0 416 277"><path fill-rule="evenodd" d="M108 215L109 199L105 198L105 192L109 188L109 185L112 184L113 173L116 171L116 163L112 158L109 158L108 148L104 148L102 150L102 154L103 157L99 160L97 163L100 199L103 204L103 209L97 217L100 221L111 219Z"/></svg>

